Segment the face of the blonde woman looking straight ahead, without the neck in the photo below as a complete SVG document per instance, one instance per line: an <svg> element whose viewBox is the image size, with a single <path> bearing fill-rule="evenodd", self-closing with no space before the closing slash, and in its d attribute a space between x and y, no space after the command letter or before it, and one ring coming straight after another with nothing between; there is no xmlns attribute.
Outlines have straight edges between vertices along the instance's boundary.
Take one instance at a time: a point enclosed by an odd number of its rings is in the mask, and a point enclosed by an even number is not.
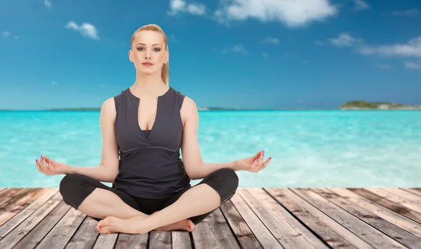
<svg viewBox="0 0 421 249"><path fill-rule="evenodd" d="M161 67L169 59L162 34L156 31L140 31L135 34L132 46L133 49L128 52L128 57L138 71L145 74L161 74ZM145 62L152 65L147 65Z"/></svg>

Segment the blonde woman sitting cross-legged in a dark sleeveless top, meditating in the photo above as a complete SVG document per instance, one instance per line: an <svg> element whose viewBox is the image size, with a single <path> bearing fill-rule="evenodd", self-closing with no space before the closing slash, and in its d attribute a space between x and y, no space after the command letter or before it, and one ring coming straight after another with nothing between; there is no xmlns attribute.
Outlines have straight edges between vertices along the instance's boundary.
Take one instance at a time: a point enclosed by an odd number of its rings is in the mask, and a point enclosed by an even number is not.
<svg viewBox="0 0 421 249"><path fill-rule="evenodd" d="M191 232L235 194L235 171L258 172L271 158L264 161L260 151L234 162L202 161L199 113L192 99L168 86L168 43L159 26L135 31L128 57L136 69L134 85L101 107L100 165L69 166L41 156L36 166L48 176L66 175L63 200L98 220L100 233Z"/></svg>

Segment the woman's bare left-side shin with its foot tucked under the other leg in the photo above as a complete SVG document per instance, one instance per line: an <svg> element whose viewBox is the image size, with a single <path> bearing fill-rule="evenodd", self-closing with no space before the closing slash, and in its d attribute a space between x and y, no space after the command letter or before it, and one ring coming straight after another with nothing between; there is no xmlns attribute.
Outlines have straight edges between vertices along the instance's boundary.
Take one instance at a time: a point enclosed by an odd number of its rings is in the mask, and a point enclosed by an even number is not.
<svg viewBox="0 0 421 249"><path fill-rule="evenodd" d="M107 216L113 216L121 219L128 219L134 215L147 218L149 215L142 213L128 204L124 203L120 197L109 190L96 188L86 197L78 208L78 211L88 216L105 219ZM182 220L171 225L158 227L155 231L171 231L173 229L183 229L190 231L194 227L190 220Z"/></svg>

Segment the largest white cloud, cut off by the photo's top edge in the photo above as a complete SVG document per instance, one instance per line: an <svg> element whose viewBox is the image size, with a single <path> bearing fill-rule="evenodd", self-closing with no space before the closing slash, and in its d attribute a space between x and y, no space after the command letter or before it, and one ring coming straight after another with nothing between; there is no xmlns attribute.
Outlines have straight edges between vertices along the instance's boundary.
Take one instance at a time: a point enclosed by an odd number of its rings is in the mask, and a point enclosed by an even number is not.
<svg viewBox="0 0 421 249"><path fill-rule="evenodd" d="M215 19L223 24L232 20L257 19L261 22L283 22L300 27L322 21L337 13L328 0L220 0Z"/></svg>

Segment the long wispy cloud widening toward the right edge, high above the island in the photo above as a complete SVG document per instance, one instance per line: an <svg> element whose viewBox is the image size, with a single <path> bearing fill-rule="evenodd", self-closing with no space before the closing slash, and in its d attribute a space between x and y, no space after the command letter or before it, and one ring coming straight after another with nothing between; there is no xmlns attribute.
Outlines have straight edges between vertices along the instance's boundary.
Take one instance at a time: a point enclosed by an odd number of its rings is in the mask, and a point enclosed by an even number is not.
<svg viewBox="0 0 421 249"><path fill-rule="evenodd" d="M421 57L421 36L412 38L407 43L379 46L363 45L357 50L363 55Z"/></svg>

